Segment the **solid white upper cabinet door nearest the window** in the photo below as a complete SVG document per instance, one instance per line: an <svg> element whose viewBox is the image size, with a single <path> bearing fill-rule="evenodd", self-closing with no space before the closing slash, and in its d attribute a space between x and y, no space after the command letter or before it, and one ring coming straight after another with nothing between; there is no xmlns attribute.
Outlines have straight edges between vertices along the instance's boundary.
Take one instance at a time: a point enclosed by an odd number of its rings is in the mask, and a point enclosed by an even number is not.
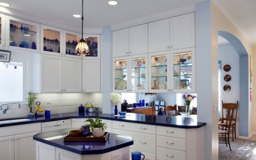
<svg viewBox="0 0 256 160"><path fill-rule="evenodd" d="M54 55L40 55L40 91L58 93L63 90L63 58ZM75 69L73 69L75 70ZM74 77L77 78L77 77Z"/></svg>

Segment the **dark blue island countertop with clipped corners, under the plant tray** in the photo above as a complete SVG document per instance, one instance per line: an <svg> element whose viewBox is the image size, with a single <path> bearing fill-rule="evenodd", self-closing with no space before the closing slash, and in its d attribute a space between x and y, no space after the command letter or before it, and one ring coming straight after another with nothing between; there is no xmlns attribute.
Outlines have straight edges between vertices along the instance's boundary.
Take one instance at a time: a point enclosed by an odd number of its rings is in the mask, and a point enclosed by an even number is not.
<svg viewBox="0 0 256 160"><path fill-rule="evenodd" d="M106 142L64 142L65 133L74 129L79 128L42 132L34 135L33 139L81 155L103 154L133 145L131 136L120 136L112 133L109 134L109 139Z"/></svg>

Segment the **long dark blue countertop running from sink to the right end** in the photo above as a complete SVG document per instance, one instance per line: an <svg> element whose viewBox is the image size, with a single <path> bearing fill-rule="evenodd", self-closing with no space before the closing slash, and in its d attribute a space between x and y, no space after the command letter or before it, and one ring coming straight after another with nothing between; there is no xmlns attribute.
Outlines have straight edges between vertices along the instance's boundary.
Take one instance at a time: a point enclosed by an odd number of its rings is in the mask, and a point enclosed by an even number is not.
<svg viewBox="0 0 256 160"><path fill-rule="evenodd" d="M137 114L137 113L126 113L129 116L126 117L115 117L114 114L107 114L99 112L97 115L95 113L78 113L78 112L70 112L70 113L59 113L59 114L51 114L49 117L34 117L29 121L23 122L12 122L12 123L3 123L0 124L0 127L5 126L13 126L20 124L29 124L29 123L37 123L37 122L49 122L54 120L65 120L70 118L95 118L99 116L101 119L107 120L118 120L124 122L132 122L132 123L142 123L142 124L150 124L157 126L167 126L167 127L177 127L177 128L200 128L206 125L205 122L197 122L197 116L191 115L191 117L182 117L182 116L158 116L158 115L147 115L147 114ZM22 117L25 118L25 117ZM16 118L19 119L19 118ZM11 120L11 119L3 119L3 120ZM1 122L2 120L0 120Z"/></svg>

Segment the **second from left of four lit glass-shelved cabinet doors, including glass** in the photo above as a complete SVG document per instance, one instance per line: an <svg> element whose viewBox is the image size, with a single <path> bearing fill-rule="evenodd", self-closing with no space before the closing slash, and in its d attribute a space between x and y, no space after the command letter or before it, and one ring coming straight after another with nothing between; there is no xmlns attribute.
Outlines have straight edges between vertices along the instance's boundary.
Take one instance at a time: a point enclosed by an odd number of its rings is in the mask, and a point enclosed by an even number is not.
<svg viewBox="0 0 256 160"><path fill-rule="evenodd" d="M129 56L130 92L148 92L148 54Z"/></svg>

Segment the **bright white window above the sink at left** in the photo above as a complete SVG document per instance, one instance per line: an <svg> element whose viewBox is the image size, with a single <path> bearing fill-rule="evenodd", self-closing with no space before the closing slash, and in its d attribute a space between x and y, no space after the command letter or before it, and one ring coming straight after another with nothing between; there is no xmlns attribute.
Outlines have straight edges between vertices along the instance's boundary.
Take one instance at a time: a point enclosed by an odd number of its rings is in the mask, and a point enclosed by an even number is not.
<svg viewBox="0 0 256 160"><path fill-rule="evenodd" d="M0 62L0 102L23 101L23 63Z"/></svg>

